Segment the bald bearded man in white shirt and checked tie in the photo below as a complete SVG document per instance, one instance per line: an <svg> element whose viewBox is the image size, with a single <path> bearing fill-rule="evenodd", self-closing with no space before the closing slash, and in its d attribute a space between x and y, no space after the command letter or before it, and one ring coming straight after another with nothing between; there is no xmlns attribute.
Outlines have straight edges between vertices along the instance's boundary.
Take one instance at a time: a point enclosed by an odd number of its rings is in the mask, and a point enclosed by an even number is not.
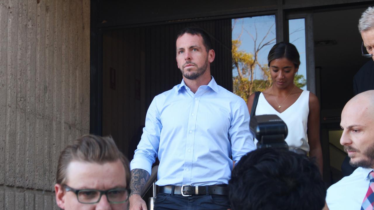
<svg viewBox="0 0 374 210"><path fill-rule="evenodd" d="M374 203L374 90L348 101L341 112L340 144L358 167L327 190L327 206L334 209L373 209ZM371 187L369 186L371 185Z"/></svg>

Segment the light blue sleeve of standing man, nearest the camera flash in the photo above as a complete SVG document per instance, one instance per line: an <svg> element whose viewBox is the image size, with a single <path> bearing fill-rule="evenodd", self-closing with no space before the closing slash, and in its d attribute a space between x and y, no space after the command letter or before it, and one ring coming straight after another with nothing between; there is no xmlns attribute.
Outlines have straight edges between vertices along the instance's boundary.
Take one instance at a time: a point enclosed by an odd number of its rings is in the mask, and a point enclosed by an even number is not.
<svg viewBox="0 0 374 210"><path fill-rule="evenodd" d="M240 158L255 149L253 136L249 131L249 112L243 99L234 106L229 136L233 160L237 163Z"/></svg>

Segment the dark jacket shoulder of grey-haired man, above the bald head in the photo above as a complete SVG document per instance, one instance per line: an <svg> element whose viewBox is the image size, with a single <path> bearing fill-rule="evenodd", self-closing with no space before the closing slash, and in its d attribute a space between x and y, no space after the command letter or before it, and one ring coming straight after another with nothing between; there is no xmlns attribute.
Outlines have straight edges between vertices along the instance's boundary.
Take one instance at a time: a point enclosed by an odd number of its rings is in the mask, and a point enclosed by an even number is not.
<svg viewBox="0 0 374 210"><path fill-rule="evenodd" d="M370 59L353 77L353 94L374 90L374 61Z"/></svg>

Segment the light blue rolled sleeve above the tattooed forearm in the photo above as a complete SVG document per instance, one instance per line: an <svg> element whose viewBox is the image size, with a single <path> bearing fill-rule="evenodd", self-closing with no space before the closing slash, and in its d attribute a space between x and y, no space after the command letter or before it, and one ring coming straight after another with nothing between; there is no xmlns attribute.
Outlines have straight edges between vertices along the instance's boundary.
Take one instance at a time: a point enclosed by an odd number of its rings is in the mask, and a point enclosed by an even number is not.
<svg viewBox="0 0 374 210"><path fill-rule="evenodd" d="M143 169L151 174L152 164L156 161L162 129L156 98L157 96L148 108L143 134L135 150L134 159L130 163L130 170Z"/></svg>

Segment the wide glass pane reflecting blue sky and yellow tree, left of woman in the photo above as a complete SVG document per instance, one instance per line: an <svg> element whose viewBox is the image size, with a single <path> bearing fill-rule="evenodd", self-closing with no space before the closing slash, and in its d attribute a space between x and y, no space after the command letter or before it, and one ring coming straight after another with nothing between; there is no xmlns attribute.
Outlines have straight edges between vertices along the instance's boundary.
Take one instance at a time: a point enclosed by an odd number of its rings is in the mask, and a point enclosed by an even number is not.
<svg viewBox="0 0 374 210"><path fill-rule="evenodd" d="M233 92L245 101L272 85L267 55L275 42L275 15L232 19Z"/></svg>

